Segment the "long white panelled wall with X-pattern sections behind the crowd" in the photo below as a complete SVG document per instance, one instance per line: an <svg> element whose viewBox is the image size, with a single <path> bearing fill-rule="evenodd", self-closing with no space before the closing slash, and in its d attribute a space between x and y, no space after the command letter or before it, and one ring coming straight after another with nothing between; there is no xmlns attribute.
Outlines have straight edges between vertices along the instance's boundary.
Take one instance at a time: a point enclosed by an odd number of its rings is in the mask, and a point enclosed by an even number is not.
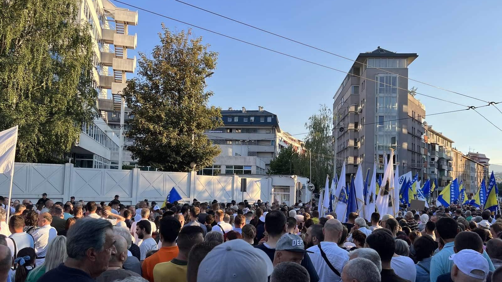
<svg viewBox="0 0 502 282"><path fill-rule="evenodd" d="M240 177L202 176L195 173L147 172L139 169L109 170L75 168L73 164L50 165L16 163L12 198L31 199L36 202L42 193L53 201L75 200L105 201L120 196L124 204L148 199L162 203L171 188L175 187L183 201L250 202L258 199L270 201L272 180L269 176L246 177L247 192L240 192ZM291 194L294 197L294 184ZM9 195L9 176L0 174L0 195Z"/></svg>

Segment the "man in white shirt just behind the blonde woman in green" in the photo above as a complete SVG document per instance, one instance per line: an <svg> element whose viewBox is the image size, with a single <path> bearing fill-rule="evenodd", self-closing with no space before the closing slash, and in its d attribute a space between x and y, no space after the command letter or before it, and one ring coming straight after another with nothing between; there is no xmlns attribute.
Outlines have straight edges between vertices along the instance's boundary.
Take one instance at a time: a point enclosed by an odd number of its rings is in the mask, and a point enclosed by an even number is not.
<svg viewBox="0 0 502 282"><path fill-rule="evenodd" d="M51 222L52 216L50 213L39 214L37 224L40 228L32 233L33 239L35 239L35 253L37 254L36 265L44 263L47 245L57 236L56 228L51 226Z"/></svg>

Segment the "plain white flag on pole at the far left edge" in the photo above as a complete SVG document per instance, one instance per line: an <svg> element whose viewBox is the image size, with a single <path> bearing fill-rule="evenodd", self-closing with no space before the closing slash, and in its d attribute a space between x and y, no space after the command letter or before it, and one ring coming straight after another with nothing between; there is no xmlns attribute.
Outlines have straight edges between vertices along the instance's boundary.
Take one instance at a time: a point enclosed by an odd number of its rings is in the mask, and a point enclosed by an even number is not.
<svg viewBox="0 0 502 282"><path fill-rule="evenodd" d="M14 172L16 143L18 142L18 126L0 132L0 173L9 178Z"/></svg>

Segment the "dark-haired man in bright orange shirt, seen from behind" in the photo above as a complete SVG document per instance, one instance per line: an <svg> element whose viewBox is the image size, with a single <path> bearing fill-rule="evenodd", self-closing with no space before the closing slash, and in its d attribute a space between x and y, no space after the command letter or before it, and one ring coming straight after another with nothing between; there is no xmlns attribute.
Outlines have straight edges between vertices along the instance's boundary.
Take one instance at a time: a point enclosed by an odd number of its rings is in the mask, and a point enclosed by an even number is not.
<svg viewBox="0 0 502 282"><path fill-rule="evenodd" d="M141 265L143 277L154 282L154 267L157 263L171 261L178 255L176 238L180 233L181 223L173 217L166 217L160 221L160 240L162 248L147 257Z"/></svg>

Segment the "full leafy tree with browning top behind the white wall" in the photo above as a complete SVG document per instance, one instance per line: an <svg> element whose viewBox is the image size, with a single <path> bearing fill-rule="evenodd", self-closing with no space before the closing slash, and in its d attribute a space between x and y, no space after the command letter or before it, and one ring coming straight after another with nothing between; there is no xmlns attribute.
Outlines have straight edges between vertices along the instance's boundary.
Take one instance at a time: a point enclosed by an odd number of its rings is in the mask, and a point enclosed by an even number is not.
<svg viewBox="0 0 502 282"><path fill-rule="evenodd" d="M127 149L141 166L184 172L194 162L201 169L220 153L203 134L223 124L221 109L207 106L213 92L204 90L217 53L208 51L201 37L189 39L190 30L171 33L164 25L162 30L161 45L151 59L140 53L138 78L123 91L135 116L126 132L135 144Z"/></svg>

